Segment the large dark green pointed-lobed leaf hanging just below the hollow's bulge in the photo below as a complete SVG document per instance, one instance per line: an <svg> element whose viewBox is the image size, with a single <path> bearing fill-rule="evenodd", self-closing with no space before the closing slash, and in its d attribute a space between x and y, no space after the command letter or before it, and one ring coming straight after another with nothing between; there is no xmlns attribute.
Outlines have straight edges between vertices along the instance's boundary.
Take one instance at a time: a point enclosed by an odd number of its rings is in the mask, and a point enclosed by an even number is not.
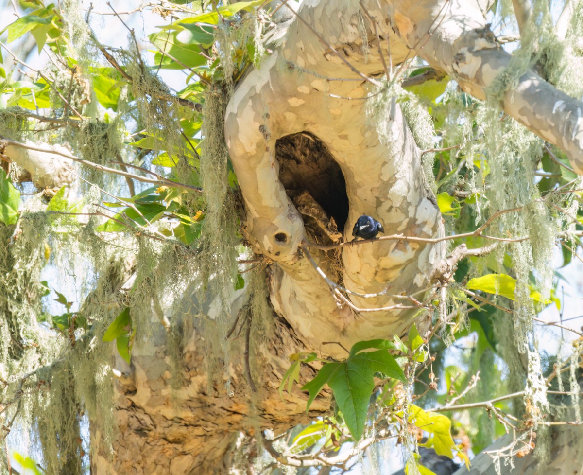
<svg viewBox="0 0 583 475"><path fill-rule="evenodd" d="M325 364L318 375L302 388L310 393L307 409L322 387L328 384L344 416L346 427L353 438L359 440L364 432L375 373L405 381L403 370L387 350L362 352L342 363Z"/></svg>

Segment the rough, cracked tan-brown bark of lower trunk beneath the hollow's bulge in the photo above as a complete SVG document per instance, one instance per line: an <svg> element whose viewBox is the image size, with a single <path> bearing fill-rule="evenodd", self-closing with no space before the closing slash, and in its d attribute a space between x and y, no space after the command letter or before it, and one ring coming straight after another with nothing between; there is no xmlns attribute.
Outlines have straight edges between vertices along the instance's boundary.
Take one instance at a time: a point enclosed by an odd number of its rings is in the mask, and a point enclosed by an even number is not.
<svg viewBox="0 0 583 475"><path fill-rule="evenodd" d="M233 320L246 298L244 292L234 295ZM212 315L211 306L212 301L193 300L184 308L190 317L180 331L185 342L179 348L180 368L168 356L173 337L161 328L135 348L131 365L116 356L115 435L107 440L103 421L91 421L92 473L222 475L233 466L234 449L241 448L238 441L249 441L261 427L285 431L308 422L306 397L298 385L291 394L284 393L285 400L278 392L289 354L305 351L293 333L273 319L268 343L251 340L253 393L245 376L243 342L231 342L228 362L209 361L213 352L204 334L217 331L216 323L193 316ZM305 382L314 375L304 367L300 377ZM329 395L324 394L314 401L310 415L328 408Z"/></svg>

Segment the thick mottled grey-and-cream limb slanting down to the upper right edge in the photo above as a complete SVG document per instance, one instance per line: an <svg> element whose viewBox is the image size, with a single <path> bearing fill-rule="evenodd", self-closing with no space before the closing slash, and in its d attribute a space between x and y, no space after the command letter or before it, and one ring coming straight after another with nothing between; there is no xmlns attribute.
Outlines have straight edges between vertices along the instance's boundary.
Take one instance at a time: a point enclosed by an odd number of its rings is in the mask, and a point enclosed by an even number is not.
<svg viewBox="0 0 583 475"><path fill-rule="evenodd" d="M486 99L489 88L508 71L512 57L496 43L479 4L466 0L424 0L415 7L408 0L387 4L392 24L406 44L469 94ZM583 103L533 71L508 78L504 86L501 109L558 146L583 174Z"/></svg>

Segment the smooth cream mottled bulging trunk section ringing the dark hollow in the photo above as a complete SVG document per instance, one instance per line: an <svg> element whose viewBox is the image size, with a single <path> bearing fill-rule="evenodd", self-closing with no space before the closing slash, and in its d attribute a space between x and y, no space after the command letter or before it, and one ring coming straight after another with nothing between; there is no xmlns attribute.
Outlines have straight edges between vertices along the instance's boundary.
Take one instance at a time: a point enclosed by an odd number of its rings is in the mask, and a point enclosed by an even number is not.
<svg viewBox="0 0 583 475"><path fill-rule="evenodd" d="M382 25L381 37L390 39L391 57L395 63L403 61L409 51L385 21L387 12L380 11L377 2L369 3L367 11ZM245 236L255 252L276 262L271 275L276 312L308 347L322 348L324 341L350 347L360 340L403 334L412 323L412 312L356 315L335 301L298 252L310 236L279 179L276 141L308 132L326 146L346 183L345 239L352 238L352 226L361 214L375 216L387 233L429 238L442 235L441 216L398 104L389 99L382 114L371 110L363 99L378 93L377 88L361 81L344 62L364 74L382 72L380 58L363 52L372 50L377 39L366 30L359 5L339 2L330 9L325 2L303 4L298 15L310 26L292 20L285 39L276 40L273 54L234 93L225 119L227 147L245 200ZM381 46L387 54L387 42ZM344 286L361 294L419 292L431 286L428 276L444 249L386 241L343 249ZM331 272L324 254L314 254L325 273ZM402 303L386 295L352 299L358 308ZM325 351L339 355L338 348Z"/></svg>

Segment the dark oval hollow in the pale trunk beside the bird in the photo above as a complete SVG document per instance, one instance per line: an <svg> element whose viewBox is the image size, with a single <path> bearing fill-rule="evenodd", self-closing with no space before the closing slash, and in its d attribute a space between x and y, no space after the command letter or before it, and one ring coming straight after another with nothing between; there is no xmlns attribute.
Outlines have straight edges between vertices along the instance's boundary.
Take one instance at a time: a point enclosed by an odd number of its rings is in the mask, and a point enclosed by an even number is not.
<svg viewBox="0 0 583 475"><path fill-rule="evenodd" d="M315 208L319 205L326 215L322 218L328 218L342 233L348 218L346 181L340 166L322 141L309 132L287 135L278 139L276 157L279 180L304 216L304 221L308 218L319 221L314 216L318 214ZM307 205L309 196L306 191L315 201L315 206Z"/></svg>

